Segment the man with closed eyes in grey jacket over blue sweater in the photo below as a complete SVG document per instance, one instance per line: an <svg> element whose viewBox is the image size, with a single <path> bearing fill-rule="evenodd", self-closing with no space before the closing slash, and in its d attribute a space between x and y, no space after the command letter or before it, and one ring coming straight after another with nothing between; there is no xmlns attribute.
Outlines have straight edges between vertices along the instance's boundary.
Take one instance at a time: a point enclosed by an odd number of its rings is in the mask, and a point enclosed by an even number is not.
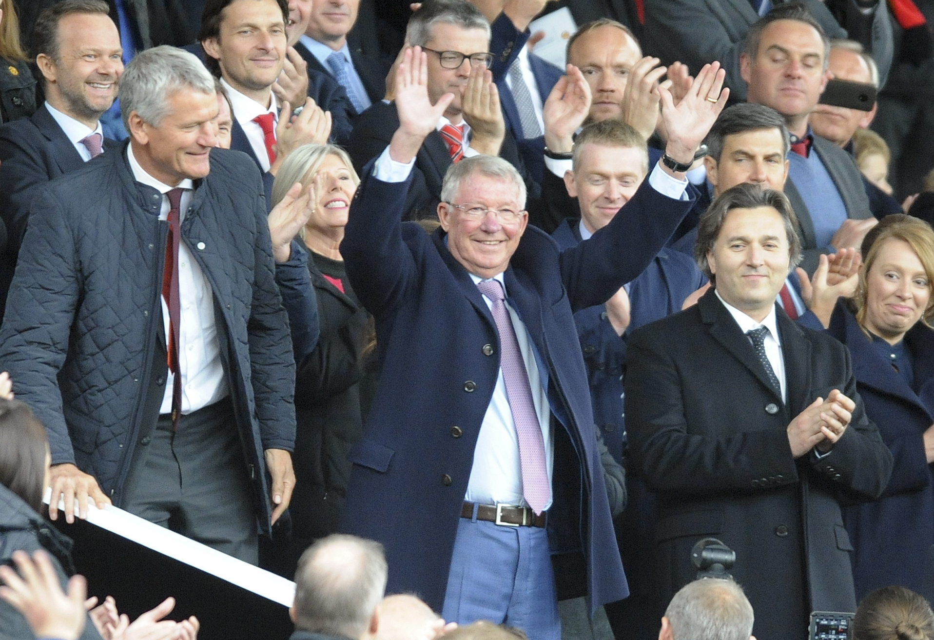
<svg viewBox="0 0 934 640"><path fill-rule="evenodd" d="M821 25L800 6L776 7L748 33L741 73L748 101L785 118L791 134L786 194L798 216L809 274L821 253L858 249L875 224L863 178L853 157L820 135L808 118L827 86L830 43Z"/></svg>

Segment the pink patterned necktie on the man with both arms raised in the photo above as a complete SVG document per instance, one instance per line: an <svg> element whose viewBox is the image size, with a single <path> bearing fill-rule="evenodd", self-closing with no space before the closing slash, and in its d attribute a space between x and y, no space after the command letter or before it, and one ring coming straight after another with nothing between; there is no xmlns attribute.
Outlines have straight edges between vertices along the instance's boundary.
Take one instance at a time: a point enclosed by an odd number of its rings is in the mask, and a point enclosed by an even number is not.
<svg viewBox="0 0 934 640"><path fill-rule="evenodd" d="M519 464L522 467L522 495L536 514L545 510L551 499L548 470L545 464L545 440L542 426L531 399L529 373L526 371L516 330L503 303L502 285L498 280L484 280L477 284L481 293L493 301L493 320L500 334L500 367L506 382L509 408L516 420L519 441Z"/></svg>

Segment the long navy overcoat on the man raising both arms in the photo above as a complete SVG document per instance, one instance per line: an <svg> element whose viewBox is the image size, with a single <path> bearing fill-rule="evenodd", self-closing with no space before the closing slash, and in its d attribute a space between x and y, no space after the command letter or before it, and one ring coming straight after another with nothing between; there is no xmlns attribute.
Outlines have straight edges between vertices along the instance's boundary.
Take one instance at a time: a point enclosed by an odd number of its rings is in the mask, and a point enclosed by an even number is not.
<svg viewBox="0 0 934 640"><path fill-rule="evenodd" d="M351 451L354 467L342 529L383 543L389 592L415 591L436 610L447 572L474 446L499 374L499 340L488 306L439 230L401 222L406 182L362 172L341 253L347 275L375 316L383 376ZM638 276L664 245L690 201L647 184L577 248L559 251L529 226L504 277L509 304L526 325L548 391L555 434L553 552L587 561L590 604L624 598L587 371L573 310L600 304ZM492 348L490 348L492 346Z"/></svg>

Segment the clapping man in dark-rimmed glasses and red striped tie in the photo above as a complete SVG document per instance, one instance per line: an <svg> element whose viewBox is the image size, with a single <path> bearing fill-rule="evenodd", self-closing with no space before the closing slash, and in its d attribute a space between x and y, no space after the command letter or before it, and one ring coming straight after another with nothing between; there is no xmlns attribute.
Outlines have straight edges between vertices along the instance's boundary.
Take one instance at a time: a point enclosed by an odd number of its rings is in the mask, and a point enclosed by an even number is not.
<svg viewBox="0 0 934 640"><path fill-rule="evenodd" d="M493 83L528 37L528 19L524 25L518 20L502 13L491 28L477 7L466 0L454 0L427 2L409 21L409 43L429 51L428 87L432 101L447 92L453 92L455 98L438 120L437 131L425 138L418 151L405 206L406 219L435 216L445 172L463 157L477 153L499 155L517 166L524 176L528 175L516 140L505 129ZM497 36L508 31L511 31L508 37ZM490 46L491 37L508 44L502 45L502 51L496 51L497 46ZM347 152L358 172L386 149L398 126L396 107L383 102L375 103L354 121ZM537 188L531 178L529 186Z"/></svg>

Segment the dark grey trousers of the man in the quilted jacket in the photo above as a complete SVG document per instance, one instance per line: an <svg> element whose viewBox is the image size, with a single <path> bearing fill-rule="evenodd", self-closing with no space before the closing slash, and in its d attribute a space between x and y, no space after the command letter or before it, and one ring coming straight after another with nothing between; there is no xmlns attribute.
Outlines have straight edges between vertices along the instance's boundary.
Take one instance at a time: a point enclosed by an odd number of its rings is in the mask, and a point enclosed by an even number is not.
<svg viewBox="0 0 934 640"><path fill-rule="evenodd" d="M256 513L230 399L160 416L127 479L130 513L250 564L258 562Z"/></svg>

